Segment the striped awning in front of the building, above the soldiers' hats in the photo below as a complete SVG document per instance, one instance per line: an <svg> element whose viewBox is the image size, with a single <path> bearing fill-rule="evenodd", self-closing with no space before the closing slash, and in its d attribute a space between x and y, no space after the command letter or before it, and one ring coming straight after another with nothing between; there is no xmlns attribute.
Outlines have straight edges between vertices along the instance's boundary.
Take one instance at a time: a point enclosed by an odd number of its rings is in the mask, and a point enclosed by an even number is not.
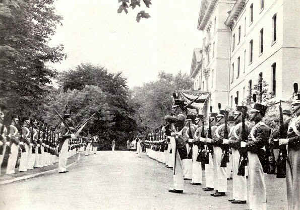
<svg viewBox="0 0 300 210"><path fill-rule="evenodd" d="M185 104L189 104L191 101L200 96L195 102L193 102L193 106L197 107L199 110L202 110L207 98L209 97L209 92L197 91L197 90L176 90L175 91L178 99L184 100ZM196 110L189 109L191 112L196 112Z"/></svg>

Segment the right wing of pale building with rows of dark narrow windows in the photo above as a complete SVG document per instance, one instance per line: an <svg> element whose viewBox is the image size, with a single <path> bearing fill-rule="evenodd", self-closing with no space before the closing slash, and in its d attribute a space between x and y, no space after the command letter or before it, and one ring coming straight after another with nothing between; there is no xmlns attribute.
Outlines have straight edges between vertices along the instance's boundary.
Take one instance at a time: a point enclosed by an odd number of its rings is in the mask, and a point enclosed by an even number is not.
<svg viewBox="0 0 300 210"><path fill-rule="evenodd" d="M276 101L292 95L299 82L300 30L298 1L237 0L225 25L230 28L230 68L228 104L239 105L253 94L259 77L268 85Z"/></svg>

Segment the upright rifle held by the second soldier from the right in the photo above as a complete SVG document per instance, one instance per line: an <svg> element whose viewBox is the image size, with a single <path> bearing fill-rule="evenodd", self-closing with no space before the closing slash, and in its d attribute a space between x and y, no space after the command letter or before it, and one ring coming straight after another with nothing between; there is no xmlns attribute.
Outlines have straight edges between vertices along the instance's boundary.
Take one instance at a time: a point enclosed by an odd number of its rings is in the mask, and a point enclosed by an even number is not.
<svg viewBox="0 0 300 210"><path fill-rule="evenodd" d="M247 142L247 132L246 132L246 125L245 125L245 118L246 118L246 109L242 109L242 142ZM245 166L248 165L248 155L247 155L247 150L246 148L239 148L238 150L240 154L239 158L239 165L238 165L238 170L237 170L237 175L238 176L245 176Z"/></svg>

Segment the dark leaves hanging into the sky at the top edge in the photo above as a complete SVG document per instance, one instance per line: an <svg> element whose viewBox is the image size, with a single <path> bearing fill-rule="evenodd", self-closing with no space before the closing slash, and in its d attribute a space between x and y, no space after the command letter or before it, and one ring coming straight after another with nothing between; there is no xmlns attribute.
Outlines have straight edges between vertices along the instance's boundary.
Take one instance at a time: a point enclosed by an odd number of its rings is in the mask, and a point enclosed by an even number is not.
<svg viewBox="0 0 300 210"><path fill-rule="evenodd" d="M127 14L128 13L128 8L131 7L133 10L139 6L141 7L141 0L131 0L130 5L129 4L129 0L118 0L119 3L121 3L119 5L119 8L117 9L117 13L122 13L123 11ZM144 5L147 8L150 8L151 5L151 0L143 0ZM150 18L151 16L146 13L144 10L141 10L138 14L137 14L137 22L140 22L141 18Z"/></svg>

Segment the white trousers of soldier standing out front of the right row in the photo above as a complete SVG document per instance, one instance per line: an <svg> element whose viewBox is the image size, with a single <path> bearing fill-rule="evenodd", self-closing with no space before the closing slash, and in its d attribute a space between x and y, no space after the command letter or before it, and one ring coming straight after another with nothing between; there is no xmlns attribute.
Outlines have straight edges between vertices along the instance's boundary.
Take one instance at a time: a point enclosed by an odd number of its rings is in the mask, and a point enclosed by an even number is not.
<svg viewBox="0 0 300 210"><path fill-rule="evenodd" d="M176 152L176 157L174 156L174 159L172 159L173 165L175 166L173 168L173 186L176 190L183 190L184 189L184 171L183 171L183 164L181 161L181 158L179 156L178 151L175 151L176 148L176 142L175 138L171 136L170 139L171 142L171 148L173 153Z"/></svg>

